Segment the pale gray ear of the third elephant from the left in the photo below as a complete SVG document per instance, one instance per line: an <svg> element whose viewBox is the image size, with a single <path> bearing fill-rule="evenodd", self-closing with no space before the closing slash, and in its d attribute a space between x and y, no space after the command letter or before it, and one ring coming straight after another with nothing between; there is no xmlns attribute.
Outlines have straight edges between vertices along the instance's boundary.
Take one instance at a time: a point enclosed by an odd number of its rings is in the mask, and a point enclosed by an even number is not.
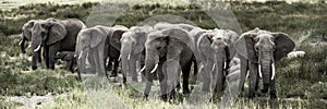
<svg viewBox="0 0 327 109"><path fill-rule="evenodd" d="M98 28L92 28L89 29L89 35L90 35L90 48L95 48L97 47L101 41L105 41L106 39L104 38L107 38L107 34L106 32L102 32L101 29L98 29Z"/></svg>

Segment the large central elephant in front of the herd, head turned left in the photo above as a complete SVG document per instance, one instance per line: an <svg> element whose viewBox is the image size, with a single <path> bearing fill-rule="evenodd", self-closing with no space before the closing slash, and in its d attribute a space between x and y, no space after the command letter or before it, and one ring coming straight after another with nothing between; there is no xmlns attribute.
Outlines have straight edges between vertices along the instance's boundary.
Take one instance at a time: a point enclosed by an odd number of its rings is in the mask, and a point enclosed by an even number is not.
<svg viewBox="0 0 327 109"><path fill-rule="evenodd" d="M145 97L147 97L150 92L153 82L152 73L157 71L160 81L161 98L168 100L169 95L174 93L173 88L179 83L177 83L177 78L179 78L180 75L178 64L180 64L183 74L183 93L190 92L187 75L190 74L192 65L193 52L190 48L193 47L192 45L194 45L193 38L189 32L180 27L149 33L145 43L145 74L148 81L144 92ZM164 64L164 62L166 63ZM170 88L171 92L168 92L168 88Z"/></svg>

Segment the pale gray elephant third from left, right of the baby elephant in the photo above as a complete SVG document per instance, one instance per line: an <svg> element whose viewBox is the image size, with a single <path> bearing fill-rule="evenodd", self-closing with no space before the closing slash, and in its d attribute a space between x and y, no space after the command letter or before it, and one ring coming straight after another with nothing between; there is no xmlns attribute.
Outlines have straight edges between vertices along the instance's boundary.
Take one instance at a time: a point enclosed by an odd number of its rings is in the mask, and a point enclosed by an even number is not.
<svg viewBox="0 0 327 109"><path fill-rule="evenodd" d="M120 46L121 35L129 28L121 25L116 25L113 27L107 27L102 25L96 25L94 27L82 29L77 36L76 43L76 57L77 57L77 69L78 77L81 78L81 73L86 71L86 59L90 64L92 72L97 73L99 76L106 75L107 70L106 60L108 56L110 57L110 47L114 48L113 45ZM113 44L113 45L112 45ZM119 49L120 50L120 49ZM113 58L118 59L118 56Z"/></svg>

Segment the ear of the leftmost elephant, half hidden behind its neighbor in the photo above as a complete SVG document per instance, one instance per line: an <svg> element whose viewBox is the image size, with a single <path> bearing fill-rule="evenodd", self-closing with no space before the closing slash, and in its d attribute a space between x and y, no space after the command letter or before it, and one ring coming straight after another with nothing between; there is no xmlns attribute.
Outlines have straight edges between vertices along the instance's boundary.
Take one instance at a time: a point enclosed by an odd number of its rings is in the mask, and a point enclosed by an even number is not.
<svg viewBox="0 0 327 109"><path fill-rule="evenodd" d="M31 20L27 23L24 24L24 26L22 27L22 38L26 38L27 40L32 40L32 27L34 26L35 22L37 22L36 20Z"/></svg>

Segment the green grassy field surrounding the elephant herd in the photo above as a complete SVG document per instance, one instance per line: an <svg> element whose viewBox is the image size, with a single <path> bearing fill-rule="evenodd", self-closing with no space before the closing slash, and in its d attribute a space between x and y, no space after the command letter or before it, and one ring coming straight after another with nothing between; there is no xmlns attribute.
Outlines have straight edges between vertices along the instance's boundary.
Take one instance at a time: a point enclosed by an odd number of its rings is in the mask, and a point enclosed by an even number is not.
<svg viewBox="0 0 327 109"><path fill-rule="evenodd" d="M43 108L218 108L219 97L208 104L190 106L185 101L164 102L157 96L148 100L128 85L116 81L90 78L96 87L85 88L86 82L77 82L76 74L57 68L55 71L31 70L31 51L22 55L17 46L21 27L33 19L81 19L86 21L96 3L22 3L17 8L0 4L0 108L26 108L22 102L8 101L11 96L52 95L53 104ZM96 1L96 0L85 0ZM74 2L74 1L72 1ZM136 25L140 21L160 14L185 17L203 28L215 28L213 20L194 5L179 3L144 3L131 5L116 24ZM246 99L245 93L233 108L325 108L327 107L327 4L284 2L240 3L230 2L231 10L239 20L243 32L254 27L284 32L296 43L295 50L303 50L303 58L283 59L277 65L277 92L280 99L268 100L266 95ZM8 4L11 5L11 4ZM11 9L11 10L7 10ZM201 20L199 20L201 17ZM57 64L63 64L58 62ZM104 88L107 87L107 88ZM245 87L246 88L246 87ZM64 95L64 96L62 96ZM106 95L106 96L104 96ZM244 97L243 97L244 96ZM114 98L114 99L112 99ZM186 99L181 97L181 99ZM28 108L28 107L27 107Z"/></svg>

